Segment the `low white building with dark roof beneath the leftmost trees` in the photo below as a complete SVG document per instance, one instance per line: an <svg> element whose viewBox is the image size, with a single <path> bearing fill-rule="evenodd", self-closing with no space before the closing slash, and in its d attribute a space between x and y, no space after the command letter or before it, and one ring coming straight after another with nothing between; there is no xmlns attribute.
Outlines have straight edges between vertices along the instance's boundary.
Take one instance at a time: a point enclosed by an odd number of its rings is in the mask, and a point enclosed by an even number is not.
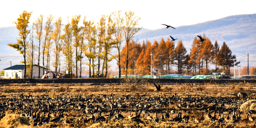
<svg viewBox="0 0 256 128"><path fill-rule="evenodd" d="M5 68L3 70L4 70L4 78L8 78L8 79L24 78L25 65L24 64L14 65L9 68ZM40 78L43 76L43 74L44 74L43 67L40 66ZM32 78L38 78L38 65L33 66Z"/></svg>

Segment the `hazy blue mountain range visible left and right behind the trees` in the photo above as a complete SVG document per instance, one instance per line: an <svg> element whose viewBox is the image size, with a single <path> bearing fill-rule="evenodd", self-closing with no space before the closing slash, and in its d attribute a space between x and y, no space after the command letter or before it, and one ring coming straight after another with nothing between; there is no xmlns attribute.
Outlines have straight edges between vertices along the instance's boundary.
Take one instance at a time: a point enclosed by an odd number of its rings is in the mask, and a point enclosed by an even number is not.
<svg viewBox="0 0 256 128"><path fill-rule="evenodd" d="M171 25L171 21L170 23L161 24ZM249 67L256 66L256 14L232 15L213 21L177 26L175 28L166 29L163 26L163 28L155 30L141 29L135 34L133 40L137 40L140 43L143 41L154 43L157 40L160 43L162 38L166 41L171 35L175 39L178 38L178 40L175 40L175 44L182 40L189 53L196 35L205 34L213 44L216 40L220 47L225 41L232 54L235 54L237 60L241 61L241 68L247 66L247 53L249 53ZM23 56L18 51L7 46L8 43L16 42L16 38L18 38L18 30L15 26L0 28L0 70L9 67L10 61L12 61L13 65L22 60ZM115 51L113 50L113 52ZM112 67L114 68L113 70L116 69L115 62L113 62Z"/></svg>

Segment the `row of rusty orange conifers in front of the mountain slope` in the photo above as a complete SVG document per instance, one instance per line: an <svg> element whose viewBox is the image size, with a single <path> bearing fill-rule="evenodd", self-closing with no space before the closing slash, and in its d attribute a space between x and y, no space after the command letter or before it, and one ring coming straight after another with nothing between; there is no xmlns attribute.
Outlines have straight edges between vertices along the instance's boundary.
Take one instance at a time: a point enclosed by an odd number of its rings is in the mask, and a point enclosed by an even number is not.
<svg viewBox="0 0 256 128"><path fill-rule="evenodd" d="M205 35L202 36L206 38ZM192 47L188 54L183 46L182 40L179 40L176 47L174 42L168 39L164 41L163 38L158 43L156 40L153 44L151 42L129 44L130 52L129 66L131 71L136 70L137 74L149 74L151 65L151 53L153 53L153 68L160 69L160 61L162 63L162 71L165 74L209 74L210 72L230 73L230 67L237 65L235 55L232 55L231 50L225 42L221 49L215 41L213 45L211 41L206 38L205 41L200 42L196 37L192 43ZM124 55L126 54L126 47L121 52L121 68L124 69ZM210 71L209 65L215 65L215 70ZM221 69L217 67L221 66ZM170 66L177 67L177 72L171 72Z"/></svg>

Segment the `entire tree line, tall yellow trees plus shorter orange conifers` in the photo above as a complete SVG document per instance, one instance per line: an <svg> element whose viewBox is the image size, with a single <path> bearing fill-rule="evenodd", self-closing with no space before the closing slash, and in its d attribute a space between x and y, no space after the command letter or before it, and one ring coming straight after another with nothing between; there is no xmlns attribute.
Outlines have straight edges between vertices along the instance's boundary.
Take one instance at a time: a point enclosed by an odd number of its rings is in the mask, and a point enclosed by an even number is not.
<svg viewBox="0 0 256 128"><path fill-rule="evenodd" d="M94 74L94 71L98 71L102 76L105 73L107 77L109 62L113 59L118 65L119 77L121 74L127 75L129 70L136 71L137 74L149 74L151 53L153 54L153 68L160 69L160 63L162 63L162 70L166 74L171 73L171 66L177 67L178 74L208 74L209 64L215 65L215 72L219 65L224 71L230 73L230 67L240 63L236 62L235 55L232 55L225 42L220 49L217 41L213 45L205 35L202 36L206 39L203 42L194 38L189 54L182 40L179 40L176 47L170 39L167 41L162 39L160 43L154 41L153 44L143 41L141 45L132 40L141 28L137 27L140 18L131 11L125 12L124 15L121 11L103 15L98 23L86 20L86 17L82 20L81 15L74 15L71 22L66 25L62 25L61 17L53 23L52 15L49 15L43 24L43 15L40 15L29 28L31 13L23 11L14 22L19 30L20 38L17 39L17 43L8 44L23 54L22 63L25 63L25 72L26 63L31 66L38 63L39 67L41 58L43 67L48 70L51 52L54 58L51 64L55 72L58 68L60 71L60 58L63 55L65 69L70 74L73 74L74 70L75 74L79 74L78 71L80 71L80 76L82 65L86 64L89 67L90 76ZM81 20L83 25L79 26ZM123 41L125 46L121 48ZM111 54L113 48L117 49L117 54ZM28 67L27 74L30 77L32 77L32 69Z"/></svg>

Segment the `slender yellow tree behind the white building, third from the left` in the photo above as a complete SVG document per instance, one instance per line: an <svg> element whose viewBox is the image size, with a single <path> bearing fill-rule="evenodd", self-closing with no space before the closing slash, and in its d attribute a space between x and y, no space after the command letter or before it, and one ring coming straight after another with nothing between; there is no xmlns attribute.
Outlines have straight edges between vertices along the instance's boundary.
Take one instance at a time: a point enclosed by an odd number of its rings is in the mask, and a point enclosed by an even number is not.
<svg viewBox="0 0 256 128"><path fill-rule="evenodd" d="M38 40L38 78L40 78L40 50L41 50L41 40L43 35L43 15L40 15L35 21L35 38Z"/></svg>

